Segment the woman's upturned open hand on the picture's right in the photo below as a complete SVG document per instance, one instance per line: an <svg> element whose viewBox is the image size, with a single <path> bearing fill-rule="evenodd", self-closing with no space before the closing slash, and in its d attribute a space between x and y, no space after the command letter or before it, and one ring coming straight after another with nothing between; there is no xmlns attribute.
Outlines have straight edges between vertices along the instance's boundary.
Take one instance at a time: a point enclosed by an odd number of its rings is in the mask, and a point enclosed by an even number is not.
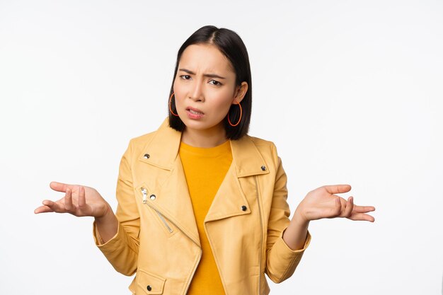
<svg viewBox="0 0 443 295"><path fill-rule="evenodd" d="M357 206L354 204L354 197L349 197L346 200L343 197L334 195L349 192L350 190L350 185L324 185L318 187L304 197L296 212L306 222L335 217L374 222L374 217L367 214L367 212L374 211L374 207Z"/></svg>

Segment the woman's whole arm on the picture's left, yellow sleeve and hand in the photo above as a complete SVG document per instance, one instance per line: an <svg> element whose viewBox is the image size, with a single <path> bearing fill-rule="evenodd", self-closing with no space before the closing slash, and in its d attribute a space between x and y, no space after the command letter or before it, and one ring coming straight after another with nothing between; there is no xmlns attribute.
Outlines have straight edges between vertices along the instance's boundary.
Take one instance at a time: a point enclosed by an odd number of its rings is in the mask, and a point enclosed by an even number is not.
<svg viewBox="0 0 443 295"><path fill-rule="evenodd" d="M93 216L93 237L100 251L117 272L132 275L137 270L139 252L139 212L135 204L131 173L131 143L120 161L117 180L117 212L92 187L50 183L52 190L64 192L56 202L45 199L35 214L44 212Z"/></svg>

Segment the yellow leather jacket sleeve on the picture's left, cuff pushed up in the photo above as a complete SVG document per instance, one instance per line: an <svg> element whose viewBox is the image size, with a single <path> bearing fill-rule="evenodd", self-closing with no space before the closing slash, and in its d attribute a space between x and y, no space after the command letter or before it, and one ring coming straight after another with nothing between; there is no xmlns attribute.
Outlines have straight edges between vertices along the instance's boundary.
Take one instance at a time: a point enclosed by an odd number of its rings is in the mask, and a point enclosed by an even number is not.
<svg viewBox="0 0 443 295"><path fill-rule="evenodd" d="M93 222L93 238L111 265L125 275L132 275L137 271L139 253L140 216L135 203L131 172L132 141L120 161L117 178L117 233L106 243L98 232L96 222Z"/></svg>

